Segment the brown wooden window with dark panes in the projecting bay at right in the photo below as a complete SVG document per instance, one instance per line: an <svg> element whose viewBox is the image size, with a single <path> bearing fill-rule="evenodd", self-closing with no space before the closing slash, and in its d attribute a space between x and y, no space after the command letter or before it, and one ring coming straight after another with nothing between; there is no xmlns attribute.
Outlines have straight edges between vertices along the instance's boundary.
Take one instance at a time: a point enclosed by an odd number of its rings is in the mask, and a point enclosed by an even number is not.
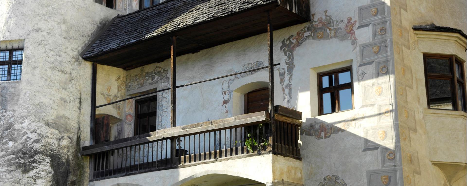
<svg viewBox="0 0 467 186"><path fill-rule="evenodd" d="M425 54L428 108L466 111L464 64L453 55Z"/></svg>

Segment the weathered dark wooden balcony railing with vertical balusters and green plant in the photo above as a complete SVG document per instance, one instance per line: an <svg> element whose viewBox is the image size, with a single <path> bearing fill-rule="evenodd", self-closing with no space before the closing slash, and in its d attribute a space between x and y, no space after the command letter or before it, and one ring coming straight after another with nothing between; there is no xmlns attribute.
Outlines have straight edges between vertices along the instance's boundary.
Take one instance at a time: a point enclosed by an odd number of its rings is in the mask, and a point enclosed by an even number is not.
<svg viewBox="0 0 467 186"><path fill-rule="evenodd" d="M275 108L275 127L265 111L189 124L85 146L90 180L245 158L272 152L300 158L301 112Z"/></svg>

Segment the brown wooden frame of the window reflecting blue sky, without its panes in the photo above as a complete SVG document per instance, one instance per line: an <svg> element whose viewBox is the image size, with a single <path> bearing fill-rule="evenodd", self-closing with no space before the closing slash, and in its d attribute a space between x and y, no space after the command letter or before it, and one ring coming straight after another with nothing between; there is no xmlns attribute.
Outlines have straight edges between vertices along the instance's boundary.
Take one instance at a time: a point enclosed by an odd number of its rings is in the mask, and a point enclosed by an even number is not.
<svg viewBox="0 0 467 186"><path fill-rule="evenodd" d="M350 71L350 83L339 84L339 73L347 72L347 71ZM329 75L334 75L334 86L321 88L321 84L323 83L322 77L329 76ZM319 104L318 116L333 114L333 113L337 113L341 111L347 111L347 110L339 109L339 90L346 90L346 89L350 89L352 92L352 109L349 109L349 110L353 110L355 108L354 108L354 76L352 73L352 66L319 72L318 73L318 104ZM331 106L335 107L335 111L324 114L323 94L330 93L330 92L334 92L335 104Z"/></svg>

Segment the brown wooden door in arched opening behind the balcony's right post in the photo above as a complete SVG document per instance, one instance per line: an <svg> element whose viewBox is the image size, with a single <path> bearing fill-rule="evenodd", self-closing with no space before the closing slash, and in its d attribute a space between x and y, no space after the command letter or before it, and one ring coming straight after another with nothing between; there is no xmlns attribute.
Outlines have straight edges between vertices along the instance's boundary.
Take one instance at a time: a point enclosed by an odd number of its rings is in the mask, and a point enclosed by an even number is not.
<svg viewBox="0 0 467 186"><path fill-rule="evenodd" d="M245 94L245 114L267 111L269 104L268 88L260 88Z"/></svg>

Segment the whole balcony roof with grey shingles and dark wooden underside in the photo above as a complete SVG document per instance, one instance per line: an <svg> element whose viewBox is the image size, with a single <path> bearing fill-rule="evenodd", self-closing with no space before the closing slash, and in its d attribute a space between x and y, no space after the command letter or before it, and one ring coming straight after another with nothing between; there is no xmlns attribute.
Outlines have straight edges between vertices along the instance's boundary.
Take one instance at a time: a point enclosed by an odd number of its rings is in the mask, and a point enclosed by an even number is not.
<svg viewBox="0 0 467 186"><path fill-rule="evenodd" d="M309 21L308 0L167 0L119 15L83 51L86 61L134 69Z"/></svg>

